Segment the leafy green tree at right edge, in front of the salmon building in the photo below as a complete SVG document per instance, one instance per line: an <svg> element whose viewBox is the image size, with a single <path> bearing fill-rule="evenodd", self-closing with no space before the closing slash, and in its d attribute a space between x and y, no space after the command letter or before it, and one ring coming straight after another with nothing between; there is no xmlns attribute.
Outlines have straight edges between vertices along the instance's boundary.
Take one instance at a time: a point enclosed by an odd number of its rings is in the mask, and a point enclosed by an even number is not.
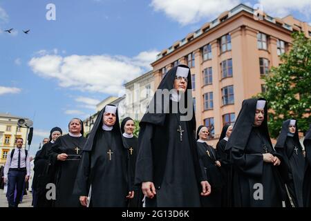
<svg viewBox="0 0 311 221"><path fill-rule="evenodd" d="M281 55L282 64L271 68L265 80L265 97L269 102L271 137L276 138L285 119L298 120L299 131L309 128L311 107L311 40L303 33L292 34L292 49Z"/></svg>

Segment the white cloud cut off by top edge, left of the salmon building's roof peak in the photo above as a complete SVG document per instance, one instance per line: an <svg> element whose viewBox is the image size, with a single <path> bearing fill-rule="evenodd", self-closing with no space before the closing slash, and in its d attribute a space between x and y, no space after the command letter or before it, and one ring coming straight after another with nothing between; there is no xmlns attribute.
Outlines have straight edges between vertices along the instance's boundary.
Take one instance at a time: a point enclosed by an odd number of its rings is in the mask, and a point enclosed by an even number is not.
<svg viewBox="0 0 311 221"><path fill-rule="evenodd" d="M151 6L182 25L187 25L201 19L214 19L238 3L240 0L152 0Z"/></svg>

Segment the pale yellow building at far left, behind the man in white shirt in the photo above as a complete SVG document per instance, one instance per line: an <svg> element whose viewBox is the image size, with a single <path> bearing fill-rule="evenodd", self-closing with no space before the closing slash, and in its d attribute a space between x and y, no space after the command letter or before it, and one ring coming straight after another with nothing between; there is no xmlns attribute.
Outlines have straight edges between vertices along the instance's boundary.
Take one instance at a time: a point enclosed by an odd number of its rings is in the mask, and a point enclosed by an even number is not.
<svg viewBox="0 0 311 221"><path fill-rule="evenodd" d="M8 113L0 113L0 165L5 164L8 152L15 147L16 138L22 137L23 147L26 146L27 128L21 128L17 125L17 121L21 118L27 119Z"/></svg>

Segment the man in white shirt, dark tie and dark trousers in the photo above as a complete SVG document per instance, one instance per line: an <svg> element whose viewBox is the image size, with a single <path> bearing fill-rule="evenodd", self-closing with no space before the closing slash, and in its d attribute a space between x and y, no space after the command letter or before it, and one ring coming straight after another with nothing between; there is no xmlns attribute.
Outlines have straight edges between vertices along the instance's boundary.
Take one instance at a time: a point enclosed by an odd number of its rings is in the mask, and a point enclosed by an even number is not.
<svg viewBox="0 0 311 221"><path fill-rule="evenodd" d="M16 146L8 153L6 166L4 167L4 182L8 179L6 196L9 207L18 207L19 199L21 199L23 193L24 182L27 182L30 176L30 160L28 152L22 148L23 138L17 138ZM17 194L14 198L15 189Z"/></svg>

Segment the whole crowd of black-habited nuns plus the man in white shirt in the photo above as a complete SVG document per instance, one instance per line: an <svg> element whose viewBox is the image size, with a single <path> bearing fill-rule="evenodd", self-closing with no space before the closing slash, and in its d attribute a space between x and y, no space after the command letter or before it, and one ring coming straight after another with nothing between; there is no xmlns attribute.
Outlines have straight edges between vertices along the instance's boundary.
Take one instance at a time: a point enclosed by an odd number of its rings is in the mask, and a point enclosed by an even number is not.
<svg viewBox="0 0 311 221"><path fill-rule="evenodd" d="M171 68L158 90L172 93L167 105L155 93L138 138L133 119L126 117L120 125L117 106L111 104L100 111L87 137L78 118L70 120L66 135L52 128L35 156L33 206L311 206L311 125L304 149L296 119L283 122L272 146L268 102L245 99L235 124L225 125L218 144L211 146L210 128L196 127L189 67ZM3 170L8 205L15 207L30 175L22 144L17 139ZM55 197L48 184L55 185Z"/></svg>

